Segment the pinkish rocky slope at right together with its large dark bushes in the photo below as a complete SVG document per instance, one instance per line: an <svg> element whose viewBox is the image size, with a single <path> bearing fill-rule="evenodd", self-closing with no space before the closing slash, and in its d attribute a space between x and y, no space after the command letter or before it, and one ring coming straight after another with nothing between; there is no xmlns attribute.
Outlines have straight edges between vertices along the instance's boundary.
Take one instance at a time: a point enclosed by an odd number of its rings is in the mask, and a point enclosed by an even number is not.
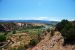
<svg viewBox="0 0 75 50"><path fill-rule="evenodd" d="M48 33L44 40L28 50L75 50L75 21L62 20L54 32Z"/></svg>

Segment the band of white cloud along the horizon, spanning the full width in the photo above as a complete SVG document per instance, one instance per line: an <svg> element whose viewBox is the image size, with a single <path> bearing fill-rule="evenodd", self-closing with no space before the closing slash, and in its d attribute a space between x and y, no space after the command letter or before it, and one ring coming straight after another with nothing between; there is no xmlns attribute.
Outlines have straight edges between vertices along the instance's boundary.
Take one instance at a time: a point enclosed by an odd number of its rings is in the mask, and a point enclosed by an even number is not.
<svg viewBox="0 0 75 50"><path fill-rule="evenodd" d="M48 20L48 21L61 21L63 17L49 17L49 16L38 16L38 17L10 17L10 18L0 18L0 20ZM75 20L74 18L65 18L67 20Z"/></svg>

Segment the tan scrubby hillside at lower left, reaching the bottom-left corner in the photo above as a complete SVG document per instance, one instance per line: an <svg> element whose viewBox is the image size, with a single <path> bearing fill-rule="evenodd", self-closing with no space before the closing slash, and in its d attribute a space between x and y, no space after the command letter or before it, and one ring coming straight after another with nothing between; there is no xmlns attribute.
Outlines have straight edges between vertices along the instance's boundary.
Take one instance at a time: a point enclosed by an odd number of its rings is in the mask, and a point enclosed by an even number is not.
<svg viewBox="0 0 75 50"><path fill-rule="evenodd" d="M27 33L13 34L8 37L8 42L0 47L2 50L18 50L19 48L25 49L24 46L27 45L30 40L31 38Z"/></svg>

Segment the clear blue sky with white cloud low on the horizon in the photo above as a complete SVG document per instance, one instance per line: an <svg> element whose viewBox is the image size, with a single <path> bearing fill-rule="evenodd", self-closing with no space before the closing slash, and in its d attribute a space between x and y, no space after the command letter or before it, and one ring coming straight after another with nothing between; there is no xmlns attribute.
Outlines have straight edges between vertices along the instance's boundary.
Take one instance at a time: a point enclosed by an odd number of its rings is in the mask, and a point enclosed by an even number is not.
<svg viewBox="0 0 75 50"><path fill-rule="evenodd" d="M0 20L75 20L75 0L0 0Z"/></svg>

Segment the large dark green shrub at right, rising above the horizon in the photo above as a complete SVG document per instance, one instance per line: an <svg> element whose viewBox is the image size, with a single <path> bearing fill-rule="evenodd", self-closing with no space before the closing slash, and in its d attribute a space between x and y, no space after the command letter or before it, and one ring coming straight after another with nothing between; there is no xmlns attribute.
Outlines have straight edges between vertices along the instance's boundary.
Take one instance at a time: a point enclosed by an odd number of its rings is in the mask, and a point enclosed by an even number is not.
<svg viewBox="0 0 75 50"><path fill-rule="evenodd" d="M62 20L56 25L56 30L60 31L65 41L72 42L75 40L75 23L68 20Z"/></svg>

